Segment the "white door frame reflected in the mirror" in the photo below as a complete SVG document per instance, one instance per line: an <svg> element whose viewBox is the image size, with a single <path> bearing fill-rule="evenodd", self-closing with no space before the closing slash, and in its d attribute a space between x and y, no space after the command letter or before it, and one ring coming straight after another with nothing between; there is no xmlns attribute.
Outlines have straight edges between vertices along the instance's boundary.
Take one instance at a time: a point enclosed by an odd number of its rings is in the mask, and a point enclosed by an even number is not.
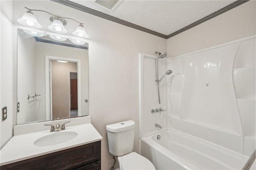
<svg viewBox="0 0 256 170"><path fill-rule="evenodd" d="M51 67L50 67L50 60L64 60L68 62L77 63L77 96L78 96L78 116L82 115L82 100L81 100L81 60L80 59L73 59L73 58L66 58L66 57L56 57L45 55L45 99L46 99L46 121L52 120L52 95L51 95L51 81L50 81L50 74L51 74ZM70 110L69 110L70 115Z"/></svg>

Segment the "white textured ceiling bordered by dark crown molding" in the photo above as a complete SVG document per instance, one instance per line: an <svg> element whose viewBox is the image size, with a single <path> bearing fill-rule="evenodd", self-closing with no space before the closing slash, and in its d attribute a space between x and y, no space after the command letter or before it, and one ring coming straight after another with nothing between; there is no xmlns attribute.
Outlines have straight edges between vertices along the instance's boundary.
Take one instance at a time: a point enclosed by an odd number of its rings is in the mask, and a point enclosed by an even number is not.
<svg viewBox="0 0 256 170"><path fill-rule="evenodd" d="M236 0L124 0L114 12L104 10L89 0L70 1L169 35Z"/></svg>

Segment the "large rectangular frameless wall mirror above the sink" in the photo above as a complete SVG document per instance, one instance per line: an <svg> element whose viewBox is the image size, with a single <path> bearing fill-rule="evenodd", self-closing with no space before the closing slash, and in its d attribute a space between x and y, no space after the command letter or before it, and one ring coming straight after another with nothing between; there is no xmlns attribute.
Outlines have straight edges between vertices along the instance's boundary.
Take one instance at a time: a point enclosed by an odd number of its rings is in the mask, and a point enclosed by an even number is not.
<svg viewBox="0 0 256 170"><path fill-rule="evenodd" d="M88 43L75 43L18 29L18 125L88 115Z"/></svg>

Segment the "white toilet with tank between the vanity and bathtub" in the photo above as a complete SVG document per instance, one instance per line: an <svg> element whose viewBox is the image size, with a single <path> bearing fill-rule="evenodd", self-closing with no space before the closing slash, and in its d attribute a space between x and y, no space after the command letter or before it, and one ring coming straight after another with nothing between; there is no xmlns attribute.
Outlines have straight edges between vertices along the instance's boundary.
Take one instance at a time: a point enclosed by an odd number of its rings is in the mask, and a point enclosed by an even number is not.
<svg viewBox="0 0 256 170"><path fill-rule="evenodd" d="M147 158L132 152L134 127L134 121L107 125L109 152L117 156L120 170L156 170Z"/></svg>

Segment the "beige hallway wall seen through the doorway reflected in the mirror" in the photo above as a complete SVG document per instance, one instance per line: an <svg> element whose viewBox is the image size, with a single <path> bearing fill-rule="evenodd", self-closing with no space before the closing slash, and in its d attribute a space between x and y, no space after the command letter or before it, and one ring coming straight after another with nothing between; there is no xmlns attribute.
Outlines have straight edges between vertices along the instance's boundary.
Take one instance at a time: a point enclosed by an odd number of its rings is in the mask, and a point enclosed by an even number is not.
<svg viewBox="0 0 256 170"><path fill-rule="evenodd" d="M69 117L70 79L68 71L77 71L77 63L52 61L52 118Z"/></svg>

